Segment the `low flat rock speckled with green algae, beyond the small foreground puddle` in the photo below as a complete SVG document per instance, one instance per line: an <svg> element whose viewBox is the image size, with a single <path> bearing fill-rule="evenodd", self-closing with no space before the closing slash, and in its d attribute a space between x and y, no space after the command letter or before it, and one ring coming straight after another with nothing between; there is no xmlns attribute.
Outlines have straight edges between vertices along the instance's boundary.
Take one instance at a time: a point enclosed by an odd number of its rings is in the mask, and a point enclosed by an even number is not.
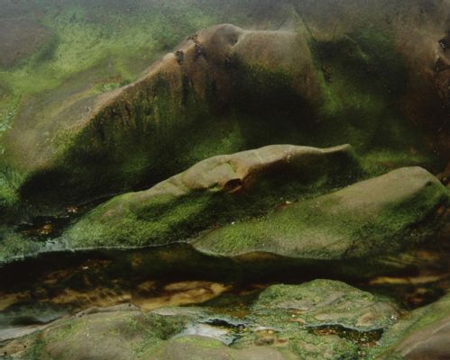
<svg viewBox="0 0 450 360"><path fill-rule="evenodd" d="M339 326L360 332L387 329L400 315L390 302L329 280L273 285L260 294L253 311L268 317L262 326L275 329L275 324L294 322L307 329Z"/></svg>

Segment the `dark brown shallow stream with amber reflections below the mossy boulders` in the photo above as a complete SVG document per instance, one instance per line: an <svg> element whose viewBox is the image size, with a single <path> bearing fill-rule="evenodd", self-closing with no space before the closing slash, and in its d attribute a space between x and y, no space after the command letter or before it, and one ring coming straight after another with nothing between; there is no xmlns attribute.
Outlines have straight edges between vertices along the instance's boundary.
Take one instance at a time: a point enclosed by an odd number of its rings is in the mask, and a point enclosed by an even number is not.
<svg viewBox="0 0 450 360"><path fill-rule="evenodd" d="M243 317L258 293L271 284L302 284L317 277L343 280L388 296L404 309L434 302L450 289L450 248L409 253L396 259L402 266L408 265L399 274L366 278L343 279L333 272L317 274L295 262L282 268L268 263L261 272L255 258L245 262L199 256L188 245L178 245L111 250L109 254L44 254L16 262L0 268L4 279L0 285L0 339L15 338L78 311L122 303L144 311L207 304L218 313ZM260 270L252 272L255 264ZM191 331L207 331L210 326L203 324L201 329ZM311 331L354 336L343 329ZM366 337L368 343L372 335Z"/></svg>

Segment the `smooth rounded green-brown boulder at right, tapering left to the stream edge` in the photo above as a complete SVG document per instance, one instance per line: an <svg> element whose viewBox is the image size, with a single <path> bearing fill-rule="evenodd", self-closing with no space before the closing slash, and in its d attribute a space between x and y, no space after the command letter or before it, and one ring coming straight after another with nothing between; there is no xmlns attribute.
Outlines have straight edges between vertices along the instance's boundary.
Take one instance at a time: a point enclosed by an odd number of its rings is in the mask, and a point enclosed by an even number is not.
<svg viewBox="0 0 450 360"><path fill-rule="evenodd" d="M419 167L400 168L263 219L217 229L194 247L226 257L268 252L307 259L373 259L433 236L443 221L438 210L448 201L448 190L434 175Z"/></svg>

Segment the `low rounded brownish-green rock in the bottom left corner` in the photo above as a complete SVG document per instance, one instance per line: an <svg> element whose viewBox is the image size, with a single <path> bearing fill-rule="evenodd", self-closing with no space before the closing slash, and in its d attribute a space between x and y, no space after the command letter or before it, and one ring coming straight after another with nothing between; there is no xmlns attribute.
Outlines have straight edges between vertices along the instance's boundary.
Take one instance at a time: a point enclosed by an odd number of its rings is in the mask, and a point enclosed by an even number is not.
<svg viewBox="0 0 450 360"><path fill-rule="evenodd" d="M102 311L55 322L28 338L2 349L4 356L32 359L138 359L144 351L179 333L186 324L181 316L162 317L131 311Z"/></svg>

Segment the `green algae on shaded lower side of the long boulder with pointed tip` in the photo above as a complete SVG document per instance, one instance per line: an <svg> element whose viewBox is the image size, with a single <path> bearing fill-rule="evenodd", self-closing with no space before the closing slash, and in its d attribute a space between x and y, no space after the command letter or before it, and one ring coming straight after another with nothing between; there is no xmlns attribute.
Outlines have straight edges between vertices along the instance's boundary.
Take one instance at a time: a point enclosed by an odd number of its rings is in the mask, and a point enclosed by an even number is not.
<svg viewBox="0 0 450 360"><path fill-rule="evenodd" d="M352 152L331 154L308 166L308 171L301 170L300 165L292 174L271 171L251 190L238 193L211 188L181 196L124 194L88 212L65 236L71 247L156 246L187 241L201 232L258 218L286 203L348 184L358 173Z"/></svg>

